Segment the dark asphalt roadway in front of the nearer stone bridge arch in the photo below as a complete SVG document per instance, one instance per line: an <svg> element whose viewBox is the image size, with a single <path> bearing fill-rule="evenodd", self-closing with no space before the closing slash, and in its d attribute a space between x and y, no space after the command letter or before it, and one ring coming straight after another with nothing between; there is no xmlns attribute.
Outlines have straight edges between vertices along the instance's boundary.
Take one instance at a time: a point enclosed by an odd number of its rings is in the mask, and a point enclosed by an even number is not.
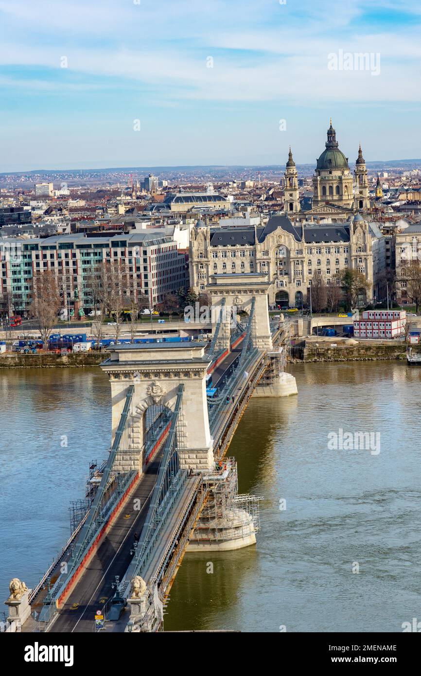
<svg viewBox="0 0 421 676"><path fill-rule="evenodd" d="M103 538L66 603L59 609L49 631L93 631L95 611L102 608L104 600L113 596L112 582L116 575L122 579L132 560L130 549L133 546L134 533L140 535L145 523L160 454L147 465L115 523ZM141 502L141 509L134 512L132 502L136 498ZM130 514L130 517L126 518L126 514ZM73 604L79 605L72 609Z"/></svg>

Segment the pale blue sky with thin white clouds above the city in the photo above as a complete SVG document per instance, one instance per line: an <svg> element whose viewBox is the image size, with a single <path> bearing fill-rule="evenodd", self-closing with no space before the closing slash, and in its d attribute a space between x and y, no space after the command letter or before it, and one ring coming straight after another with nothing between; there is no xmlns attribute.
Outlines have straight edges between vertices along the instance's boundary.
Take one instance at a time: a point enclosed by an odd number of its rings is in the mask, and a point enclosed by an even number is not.
<svg viewBox="0 0 421 676"><path fill-rule="evenodd" d="M350 161L421 157L417 0L0 0L0 25L0 172L314 164L330 116Z"/></svg>

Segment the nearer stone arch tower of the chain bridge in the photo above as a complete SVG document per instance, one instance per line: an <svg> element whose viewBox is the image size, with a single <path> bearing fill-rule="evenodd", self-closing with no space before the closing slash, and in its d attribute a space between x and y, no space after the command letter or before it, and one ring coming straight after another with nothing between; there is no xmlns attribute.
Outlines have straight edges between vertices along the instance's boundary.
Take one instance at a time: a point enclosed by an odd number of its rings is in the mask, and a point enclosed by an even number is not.
<svg viewBox="0 0 421 676"><path fill-rule="evenodd" d="M184 384L182 422L184 429L178 450L180 466L206 470L213 466L213 442L209 430L206 400L206 372L209 358L205 343L142 343L113 347L110 358L101 364L109 375L112 394L112 435L126 399L132 395L132 468L142 471L146 412L149 406L174 409L177 389Z"/></svg>

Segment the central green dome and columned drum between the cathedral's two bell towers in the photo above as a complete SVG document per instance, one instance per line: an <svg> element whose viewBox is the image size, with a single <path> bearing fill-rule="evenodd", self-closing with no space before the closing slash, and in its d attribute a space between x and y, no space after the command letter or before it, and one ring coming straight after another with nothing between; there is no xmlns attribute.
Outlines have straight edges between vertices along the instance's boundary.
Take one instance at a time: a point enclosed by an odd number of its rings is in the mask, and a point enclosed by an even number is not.
<svg viewBox="0 0 421 676"><path fill-rule="evenodd" d="M332 119L328 128L326 149L317 160L313 178L313 210L326 204L345 209L354 207L353 177L348 158L339 150Z"/></svg>

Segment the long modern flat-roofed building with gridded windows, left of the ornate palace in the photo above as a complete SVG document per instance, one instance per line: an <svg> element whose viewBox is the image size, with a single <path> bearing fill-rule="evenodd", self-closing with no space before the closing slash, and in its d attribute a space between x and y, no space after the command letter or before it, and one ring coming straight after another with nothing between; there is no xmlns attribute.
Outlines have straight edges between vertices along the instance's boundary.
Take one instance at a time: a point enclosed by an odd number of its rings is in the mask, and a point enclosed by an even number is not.
<svg viewBox="0 0 421 676"><path fill-rule="evenodd" d="M84 310L92 307L92 279L101 266L114 266L126 288L147 295L150 306L162 302L166 293L175 293L188 284L184 254L165 233L148 231L84 237L54 235L45 239L0 238L0 293L11 296L16 311L30 303L32 277L53 270L64 297L78 297Z"/></svg>

